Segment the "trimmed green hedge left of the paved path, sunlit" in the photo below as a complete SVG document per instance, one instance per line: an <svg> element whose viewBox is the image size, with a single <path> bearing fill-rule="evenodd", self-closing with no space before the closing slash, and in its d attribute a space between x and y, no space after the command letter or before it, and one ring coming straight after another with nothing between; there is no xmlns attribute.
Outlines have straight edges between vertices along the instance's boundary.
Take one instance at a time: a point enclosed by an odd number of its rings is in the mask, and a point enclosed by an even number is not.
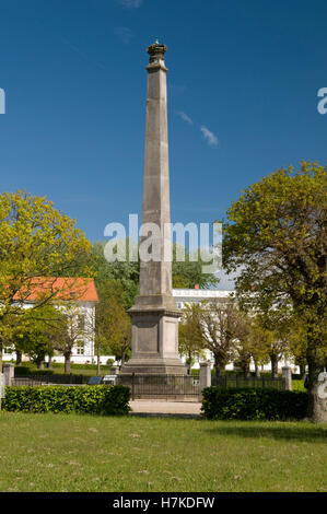
<svg viewBox="0 0 327 514"><path fill-rule="evenodd" d="M117 386L11 386L2 407L21 412L127 414L130 389Z"/></svg>

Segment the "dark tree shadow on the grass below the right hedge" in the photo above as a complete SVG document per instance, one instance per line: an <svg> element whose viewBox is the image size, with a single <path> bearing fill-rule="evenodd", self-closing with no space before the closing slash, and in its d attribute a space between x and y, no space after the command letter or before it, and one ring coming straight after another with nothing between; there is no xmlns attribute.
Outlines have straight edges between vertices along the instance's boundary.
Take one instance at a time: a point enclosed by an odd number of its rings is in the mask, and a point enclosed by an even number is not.
<svg viewBox="0 0 327 514"><path fill-rule="evenodd" d="M231 423L233 423L231 421ZM284 441L297 441L303 443L326 443L327 442L327 429L326 427L312 425L310 423L303 423L299 427L246 427L227 424L224 427L212 427L207 429L207 432L212 435L235 435L237 437L257 439L267 437L272 440L284 440Z"/></svg>

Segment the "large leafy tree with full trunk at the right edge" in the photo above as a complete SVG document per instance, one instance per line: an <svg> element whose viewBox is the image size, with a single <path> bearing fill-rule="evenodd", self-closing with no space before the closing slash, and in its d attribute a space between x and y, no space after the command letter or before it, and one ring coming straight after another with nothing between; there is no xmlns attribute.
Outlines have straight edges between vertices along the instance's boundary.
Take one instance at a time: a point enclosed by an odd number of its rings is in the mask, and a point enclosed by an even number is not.
<svg viewBox="0 0 327 514"><path fill-rule="evenodd" d="M311 162L264 177L229 209L223 241L240 301L261 312L291 304L305 325L308 416L317 422L326 420L316 394L327 354L326 188L327 167Z"/></svg>

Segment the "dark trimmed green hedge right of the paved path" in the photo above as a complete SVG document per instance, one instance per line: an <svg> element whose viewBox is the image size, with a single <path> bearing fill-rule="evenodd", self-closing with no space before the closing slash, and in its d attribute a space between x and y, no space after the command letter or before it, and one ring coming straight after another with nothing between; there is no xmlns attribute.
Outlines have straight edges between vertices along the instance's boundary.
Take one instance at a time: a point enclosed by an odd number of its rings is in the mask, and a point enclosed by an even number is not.
<svg viewBox="0 0 327 514"><path fill-rule="evenodd" d="M307 393L268 388L207 387L202 395L201 410L210 420L300 420L308 401Z"/></svg>

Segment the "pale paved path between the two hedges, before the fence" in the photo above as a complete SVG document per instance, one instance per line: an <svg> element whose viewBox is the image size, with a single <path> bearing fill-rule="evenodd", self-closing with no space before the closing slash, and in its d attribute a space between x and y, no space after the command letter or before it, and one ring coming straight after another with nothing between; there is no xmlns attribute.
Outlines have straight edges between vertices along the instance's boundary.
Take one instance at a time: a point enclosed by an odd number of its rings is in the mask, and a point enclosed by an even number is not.
<svg viewBox="0 0 327 514"><path fill-rule="evenodd" d="M177 416L199 418L201 404L198 401L135 400L129 402L135 416Z"/></svg>

